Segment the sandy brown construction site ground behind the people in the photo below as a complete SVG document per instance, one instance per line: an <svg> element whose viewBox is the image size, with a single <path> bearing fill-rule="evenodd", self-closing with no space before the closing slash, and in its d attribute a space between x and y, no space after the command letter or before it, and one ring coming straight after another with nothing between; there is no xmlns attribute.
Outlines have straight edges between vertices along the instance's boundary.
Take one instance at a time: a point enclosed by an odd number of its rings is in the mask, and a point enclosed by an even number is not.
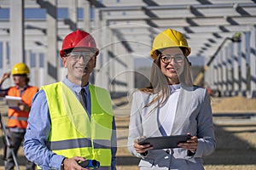
<svg viewBox="0 0 256 170"><path fill-rule="evenodd" d="M119 145L117 169L137 170L139 160L126 149L130 114L130 105L124 105L126 102L126 99L113 100ZM1 113L6 110L6 105L0 101ZM203 158L206 170L255 170L256 100L236 97L212 99L212 111L217 149L212 155ZM3 116L3 119L6 122L7 117ZM3 158L3 139L0 141L0 157ZM25 170L22 149L17 158L20 170ZM2 160L0 169L4 169Z"/></svg>

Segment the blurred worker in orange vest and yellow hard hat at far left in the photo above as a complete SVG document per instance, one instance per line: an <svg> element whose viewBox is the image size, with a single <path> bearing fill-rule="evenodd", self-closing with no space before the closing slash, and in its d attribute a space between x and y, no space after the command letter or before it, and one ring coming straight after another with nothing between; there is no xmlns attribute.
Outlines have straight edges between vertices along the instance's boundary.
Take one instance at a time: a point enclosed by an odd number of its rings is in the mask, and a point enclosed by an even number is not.
<svg viewBox="0 0 256 170"><path fill-rule="evenodd" d="M21 97L22 104L19 108L9 108L8 111L8 127L9 127L9 141L12 149L15 152L15 156L20 148L20 144L24 139L27 126L27 118L32 105L33 96L38 92L37 87L28 85L29 82L29 68L24 63L16 64L11 73L5 72L0 80L0 88L3 82L10 77L10 74L14 78L15 86L0 89L0 96L6 95ZM15 162L12 156L12 152L9 147L5 150L5 169L14 169ZM34 169L35 165L32 161L26 161L26 169Z"/></svg>

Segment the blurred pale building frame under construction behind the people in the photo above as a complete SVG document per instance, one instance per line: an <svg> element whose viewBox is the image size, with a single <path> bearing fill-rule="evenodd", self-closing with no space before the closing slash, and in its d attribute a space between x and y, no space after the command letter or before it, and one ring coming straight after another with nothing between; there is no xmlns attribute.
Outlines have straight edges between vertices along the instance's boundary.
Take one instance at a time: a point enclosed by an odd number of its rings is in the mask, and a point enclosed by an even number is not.
<svg viewBox="0 0 256 170"><path fill-rule="evenodd" d="M100 48L91 82L119 97L148 83L152 41L173 28L192 48L195 84L256 97L255 18L254 0L0 0L0 74L25 62L31 84L60 81L62 39L83 29Z"/></svg>

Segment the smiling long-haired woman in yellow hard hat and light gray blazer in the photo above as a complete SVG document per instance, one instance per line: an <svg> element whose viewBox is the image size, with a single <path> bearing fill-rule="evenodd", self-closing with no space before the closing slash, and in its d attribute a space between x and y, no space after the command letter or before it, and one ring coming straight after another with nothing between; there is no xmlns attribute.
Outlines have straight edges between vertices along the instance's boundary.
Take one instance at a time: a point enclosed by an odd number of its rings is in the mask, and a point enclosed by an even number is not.
<svg viewBox="0 0 256 170"><path fill-rule="evenodd" d="M202 156L216 147L207 89L193 86L183 34L167 29L154 38L150 86L133 93L128 150L142 158L141 169L204 169ZM143 137L187 134L180 148L153 150ZM161 141L160 141L161 142Z"/></svg>

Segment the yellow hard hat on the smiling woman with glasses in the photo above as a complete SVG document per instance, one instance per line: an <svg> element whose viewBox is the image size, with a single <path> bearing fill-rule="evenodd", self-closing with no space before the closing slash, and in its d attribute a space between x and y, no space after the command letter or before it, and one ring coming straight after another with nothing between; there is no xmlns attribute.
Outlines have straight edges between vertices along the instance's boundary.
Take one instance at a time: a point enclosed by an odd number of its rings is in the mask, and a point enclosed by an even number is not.
<svg viewBox="0 0 256 170"><path fill-rule="evenodd" d="M160 32L156 37L154 37L154 42L150 55L152 59L157 58L156 50L162 48L185 48L185 56L187 57L191 53L191 48L189 48L188 42L183 34L179 31L167 29Z"/></svg>

